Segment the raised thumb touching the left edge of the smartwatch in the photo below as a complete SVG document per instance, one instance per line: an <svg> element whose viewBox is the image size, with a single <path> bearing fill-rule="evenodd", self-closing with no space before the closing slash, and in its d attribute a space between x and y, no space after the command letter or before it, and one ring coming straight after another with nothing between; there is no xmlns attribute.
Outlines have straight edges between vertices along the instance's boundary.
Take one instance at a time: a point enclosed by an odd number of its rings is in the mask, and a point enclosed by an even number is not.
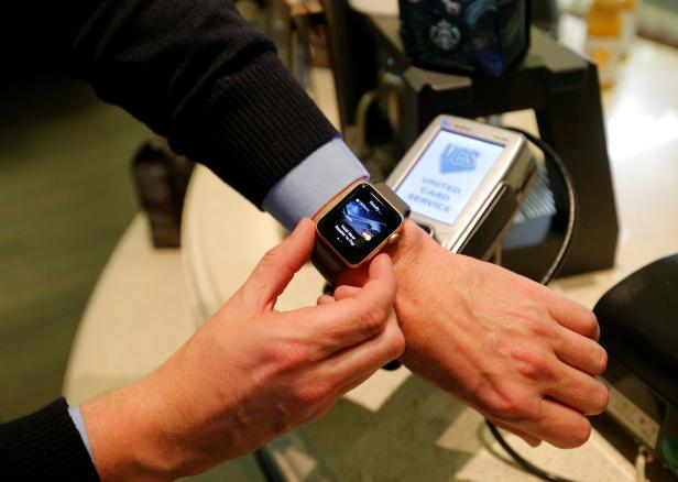
<svg viewBox="0 0 678 482"><path fill-rule="evenodd" d="M304 218L283 242L264 254L248 281L238 291L241 306L253 313L271 311L294 274L313 253L315 224Z"/></svg>

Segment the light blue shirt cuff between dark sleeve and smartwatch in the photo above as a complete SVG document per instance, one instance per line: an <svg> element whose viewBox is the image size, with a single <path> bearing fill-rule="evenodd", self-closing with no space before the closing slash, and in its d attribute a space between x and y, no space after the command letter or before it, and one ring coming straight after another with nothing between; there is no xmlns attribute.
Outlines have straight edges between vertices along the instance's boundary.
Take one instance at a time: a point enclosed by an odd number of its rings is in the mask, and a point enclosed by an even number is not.
<svg viewBox="0 0 678 482"><path fill-rule="evenodd" d="M263 207L287 230L310 218L341 189L368 171L345 142L336 138L289 171L269 191Z"/></svg>

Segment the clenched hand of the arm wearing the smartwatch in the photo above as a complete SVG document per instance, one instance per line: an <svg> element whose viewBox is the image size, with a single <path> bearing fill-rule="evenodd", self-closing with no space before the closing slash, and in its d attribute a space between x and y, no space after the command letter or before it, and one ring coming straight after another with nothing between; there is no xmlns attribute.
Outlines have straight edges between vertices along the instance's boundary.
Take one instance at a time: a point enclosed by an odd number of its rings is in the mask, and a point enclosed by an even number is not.
<svg viewBox="0 0 678 482"><path fill-rule="evenodd" d="M494 421L536 445L578 447L586 415L608 390L599 327L587 308L502 267L452 255L408 221L393 249L401 359ZM345 271L360 285L364 273Z"/></svg>

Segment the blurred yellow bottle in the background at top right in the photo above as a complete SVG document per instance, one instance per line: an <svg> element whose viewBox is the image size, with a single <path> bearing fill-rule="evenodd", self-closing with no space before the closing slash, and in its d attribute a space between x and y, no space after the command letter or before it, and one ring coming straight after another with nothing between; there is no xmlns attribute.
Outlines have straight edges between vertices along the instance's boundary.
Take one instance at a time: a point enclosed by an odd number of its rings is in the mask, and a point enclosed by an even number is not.
<svg viewBox="0 0 678 482"><path fill-rule="evenodd" d="M598 65L600 84L614 84L622 56L622 7L633 0L595 0L587 15L587 54Z"/></svg>

